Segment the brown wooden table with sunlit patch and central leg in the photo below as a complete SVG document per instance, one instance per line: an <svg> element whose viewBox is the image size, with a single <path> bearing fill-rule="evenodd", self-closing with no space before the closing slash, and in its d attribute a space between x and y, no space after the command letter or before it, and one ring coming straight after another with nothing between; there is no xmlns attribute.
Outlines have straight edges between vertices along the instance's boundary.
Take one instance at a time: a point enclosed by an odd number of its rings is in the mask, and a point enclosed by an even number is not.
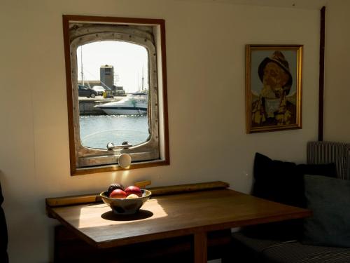
<svg viewBox="0 0 350 263"><path fill-rule="evenodd" d="M104 203L47 206L47 211L97 248L193 235L195 262L207 262L209 231L311 215L230 189L154 196L137 215L114 215Z"/></svg>

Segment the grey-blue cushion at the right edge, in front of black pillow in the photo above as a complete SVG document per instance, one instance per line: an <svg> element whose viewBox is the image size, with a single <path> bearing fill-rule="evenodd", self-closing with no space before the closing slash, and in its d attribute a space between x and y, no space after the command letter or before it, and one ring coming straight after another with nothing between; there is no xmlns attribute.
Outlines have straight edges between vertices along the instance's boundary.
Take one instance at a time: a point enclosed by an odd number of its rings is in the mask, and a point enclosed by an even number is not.
<svg viewBox="0 0 350 263"><path fill-rule="evenodd" d="M350 180L304 176L307 208L303 243L350 248Z"/></svg>

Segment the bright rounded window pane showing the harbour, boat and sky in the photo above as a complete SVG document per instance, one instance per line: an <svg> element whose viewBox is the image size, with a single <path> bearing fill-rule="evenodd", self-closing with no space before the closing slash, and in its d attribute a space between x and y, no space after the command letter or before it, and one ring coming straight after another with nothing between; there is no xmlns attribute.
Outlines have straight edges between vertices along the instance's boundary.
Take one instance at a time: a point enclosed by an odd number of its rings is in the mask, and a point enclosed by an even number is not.
<svg viewBox="0 0 350 263"><path fill-rule="evenodd" d="M106 149L109 142L146 142L150 137L146 48L123 41L96 41L79 46L76 54L79 85L97 91L93 98L88 92L78 94L81 144ZM105 90L110 94L104 95ZM124 91L121 95L120 90Z"/></svg>

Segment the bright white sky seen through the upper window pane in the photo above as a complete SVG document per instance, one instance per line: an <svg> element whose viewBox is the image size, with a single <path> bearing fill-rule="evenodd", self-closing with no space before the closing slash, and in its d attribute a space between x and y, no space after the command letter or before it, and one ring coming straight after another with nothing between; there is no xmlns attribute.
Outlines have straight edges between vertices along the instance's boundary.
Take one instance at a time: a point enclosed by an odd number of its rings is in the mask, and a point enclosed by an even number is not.
<svg viewBox="0 0 350 263"><path fill-rule="evenodd" d="M114 84L123 86L125 93L141 90L142 75L144 88L148 89L148 52L143 46L123 41L97 41L78 47L78 81L81 80L82 56L84 80L99 80L99 68L112 65Z"/></svg>

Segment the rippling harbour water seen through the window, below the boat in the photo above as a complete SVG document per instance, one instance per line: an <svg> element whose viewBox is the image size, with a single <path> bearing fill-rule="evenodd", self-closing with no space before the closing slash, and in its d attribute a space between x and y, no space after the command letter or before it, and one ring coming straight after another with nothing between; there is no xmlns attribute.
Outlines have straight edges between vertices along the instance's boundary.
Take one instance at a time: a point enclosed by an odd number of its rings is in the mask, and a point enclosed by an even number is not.
<svg viewBox="0 0 350 263"><path fill-rule="evenodd" d="M80 116L80 140L85 147L106 149L109 142L136 145L149 136L148 116L86 115Z"/></svg>

